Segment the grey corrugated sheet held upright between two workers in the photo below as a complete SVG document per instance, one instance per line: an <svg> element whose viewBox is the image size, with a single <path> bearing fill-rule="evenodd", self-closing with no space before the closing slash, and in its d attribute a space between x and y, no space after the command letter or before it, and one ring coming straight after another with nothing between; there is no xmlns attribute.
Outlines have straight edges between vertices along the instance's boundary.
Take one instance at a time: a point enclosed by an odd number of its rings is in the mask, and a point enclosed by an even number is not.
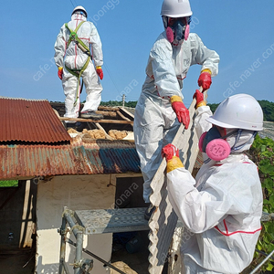
<svg viewBox="0 0 274 274"><path fill-rule="evenodd" d="M206 99L206 91L204 94ZM184 167L189 172L192 172L198 153L198 138L193 124L195 119L195 100L193 100L189 107L189 115L189 129L184 130L184 125L181 124L174 137L173 144L178 147L181 152L180 158L181 160L183 159ZM182 152L184 153L182 154ZM166 176L164 175L165 167L166 161L163 159L151 184L153 193L150 196L150 201L156 206L156 210L149 221L149 227L151 229L149 233L149 239L151 241L149 247L150 274L162 273L178 220L167 195Z"/></svg>

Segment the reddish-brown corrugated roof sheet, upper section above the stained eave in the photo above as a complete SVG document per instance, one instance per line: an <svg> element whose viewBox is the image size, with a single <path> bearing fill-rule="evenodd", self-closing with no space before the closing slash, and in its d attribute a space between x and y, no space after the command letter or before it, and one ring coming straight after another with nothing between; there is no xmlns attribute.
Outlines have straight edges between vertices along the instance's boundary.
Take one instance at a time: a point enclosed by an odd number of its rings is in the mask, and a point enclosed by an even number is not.
<svg viewBox="0 0 274 274"><path fill-rule="evenodd" d="M0 143L62 143L71 140L47 100L0 97Z"/></svg>

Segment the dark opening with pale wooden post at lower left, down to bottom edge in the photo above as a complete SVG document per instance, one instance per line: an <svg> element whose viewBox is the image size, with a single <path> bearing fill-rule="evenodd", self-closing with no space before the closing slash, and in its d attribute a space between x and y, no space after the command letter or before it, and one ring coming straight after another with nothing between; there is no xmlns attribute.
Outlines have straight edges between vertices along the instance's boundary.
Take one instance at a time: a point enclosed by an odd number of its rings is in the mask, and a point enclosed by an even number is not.
<svg viewBox="0 0 274 274"><path fill-rule="evenodd" d="M36 204L37 184L0 187L0 269L5 273L34 273Z"/></svg>

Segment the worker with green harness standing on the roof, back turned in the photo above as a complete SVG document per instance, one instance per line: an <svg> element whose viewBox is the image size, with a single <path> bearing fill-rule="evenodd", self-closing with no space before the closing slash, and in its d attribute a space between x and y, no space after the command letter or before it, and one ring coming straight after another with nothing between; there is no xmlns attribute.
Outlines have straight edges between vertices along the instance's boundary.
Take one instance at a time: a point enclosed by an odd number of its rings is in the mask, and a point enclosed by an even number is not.
<svg viewBox="0 0 274 274"><path fill-rule="evenodd" d="M66 96L64 117L79 117L80 78L82 78L87 98L81 110L81 117L102 119L102 115L95 112L101 100L102 48L98 31L93 23L87 21L87 17L87 11L83 6L79 5L74 8L71 21L61 26L59 31L54 46L54 59Z"/></svg>

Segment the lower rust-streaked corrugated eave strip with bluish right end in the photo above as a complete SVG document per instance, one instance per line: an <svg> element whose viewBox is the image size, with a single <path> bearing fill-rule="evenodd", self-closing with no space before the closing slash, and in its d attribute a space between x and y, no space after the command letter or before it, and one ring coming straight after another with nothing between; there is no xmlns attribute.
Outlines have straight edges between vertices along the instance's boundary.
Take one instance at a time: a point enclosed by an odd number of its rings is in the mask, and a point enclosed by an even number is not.
<svg viewBox="0 0 274 274"><path fill-rule="evenodd" d="M63 174L140 173L132 142L77 140L66 145L0 145L0 179Z"/></svg>

